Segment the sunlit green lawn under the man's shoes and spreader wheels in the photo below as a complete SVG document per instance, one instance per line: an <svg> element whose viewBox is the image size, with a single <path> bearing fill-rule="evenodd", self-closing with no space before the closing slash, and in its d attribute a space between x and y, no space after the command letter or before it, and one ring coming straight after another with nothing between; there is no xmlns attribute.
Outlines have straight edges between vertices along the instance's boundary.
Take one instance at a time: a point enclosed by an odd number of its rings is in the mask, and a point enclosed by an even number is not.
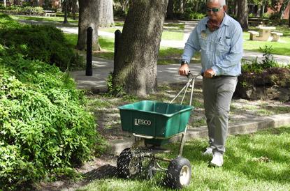
<svg viewBox="0 0 290 191"><path fill-rule="evenodd" d="M290 126L231 135L226 142L224 166L208 167L210 157L202 156L206 139L195 139L184 146L183 156L191 162L191 183L184 190L289 190ZM167 146L177 156L178 144ZM157 172L151 180L117 177L94 180L78 190L170 190L164 187L164 174Z"/></svg>

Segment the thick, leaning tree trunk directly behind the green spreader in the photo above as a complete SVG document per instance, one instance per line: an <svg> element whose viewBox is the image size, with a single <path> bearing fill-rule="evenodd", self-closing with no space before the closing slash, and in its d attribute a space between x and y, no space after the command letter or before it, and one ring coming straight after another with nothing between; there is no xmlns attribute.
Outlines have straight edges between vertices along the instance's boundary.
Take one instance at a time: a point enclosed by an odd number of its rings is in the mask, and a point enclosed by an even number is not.
<svg viewBox="0 0 290 191"><path fill-rule="evenodd" d="M157 88L157 56L168 0L133 0L117 47L113 88L145 96Z"/></svg>

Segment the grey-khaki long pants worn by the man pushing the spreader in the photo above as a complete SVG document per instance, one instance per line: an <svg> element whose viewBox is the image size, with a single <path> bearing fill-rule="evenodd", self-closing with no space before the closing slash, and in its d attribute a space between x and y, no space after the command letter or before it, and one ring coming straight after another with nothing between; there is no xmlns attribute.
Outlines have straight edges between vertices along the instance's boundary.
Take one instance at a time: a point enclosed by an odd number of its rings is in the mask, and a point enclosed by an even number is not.
<svg viewBox="0 0 290 191"><path fill-rule="evenodd" d="M203 77L203 100L208 124L209 144L213 153L224 154L228 133L231 98L238 77Z"/></svg>

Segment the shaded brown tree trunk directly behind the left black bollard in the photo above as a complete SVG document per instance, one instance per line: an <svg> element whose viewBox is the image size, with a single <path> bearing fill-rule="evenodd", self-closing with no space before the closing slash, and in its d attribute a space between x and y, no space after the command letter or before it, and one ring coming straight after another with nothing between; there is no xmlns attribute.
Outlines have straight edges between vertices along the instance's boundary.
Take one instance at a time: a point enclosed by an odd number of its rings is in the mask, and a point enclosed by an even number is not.
<svg viewBox="0 0 290 191"><path fill-rule="evenodd" d="M78 44L77 49L84 50L87 45L87 28L93 29L93 50L100 50L98 41L99 0L79 0Z"/></svg>

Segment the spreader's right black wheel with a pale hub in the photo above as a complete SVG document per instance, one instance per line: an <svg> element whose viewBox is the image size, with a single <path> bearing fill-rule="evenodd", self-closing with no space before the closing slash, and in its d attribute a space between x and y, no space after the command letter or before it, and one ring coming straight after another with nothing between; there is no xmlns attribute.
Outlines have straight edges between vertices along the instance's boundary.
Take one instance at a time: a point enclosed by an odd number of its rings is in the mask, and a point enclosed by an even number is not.
<svg viewBox="0 0 290 191"><path fill-rule="evenodd" d="M189 160L177 157L168 165L166 184L171 188L184 188L190 183L191 165Z"/></svg>

